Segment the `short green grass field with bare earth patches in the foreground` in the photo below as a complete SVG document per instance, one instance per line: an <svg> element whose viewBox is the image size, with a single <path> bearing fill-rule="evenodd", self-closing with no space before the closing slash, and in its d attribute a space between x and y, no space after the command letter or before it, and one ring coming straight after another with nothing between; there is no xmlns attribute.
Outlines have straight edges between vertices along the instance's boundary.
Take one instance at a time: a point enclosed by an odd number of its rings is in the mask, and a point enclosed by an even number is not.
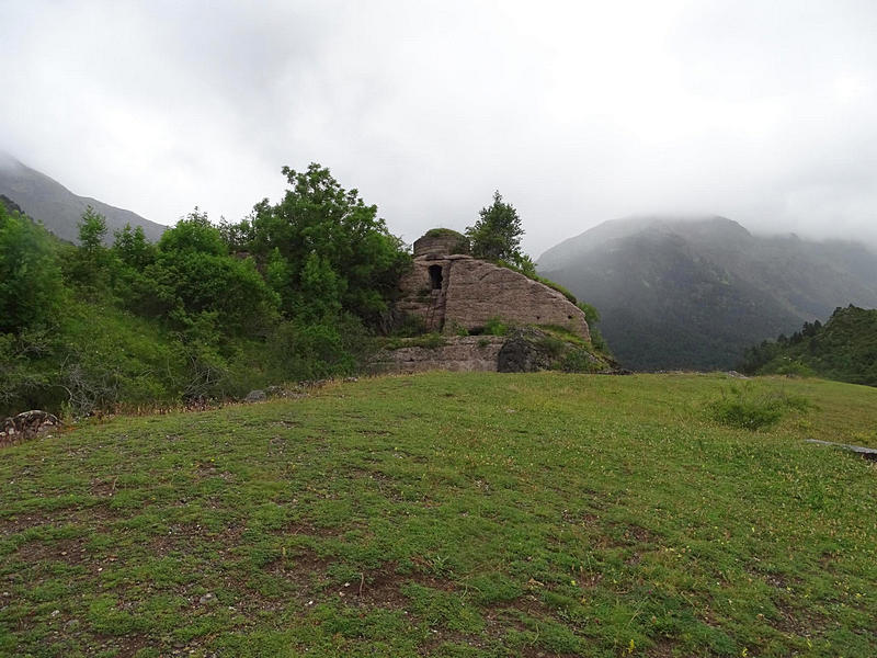
<svg viewBox="0 0 877 658"><path fill-rule="evenodd" d="M741 387L809 406L720 424ZM877 446L877 389L434 373L83 423L0 452L0 655L869 658L877 465L808 438Z"/></svg>

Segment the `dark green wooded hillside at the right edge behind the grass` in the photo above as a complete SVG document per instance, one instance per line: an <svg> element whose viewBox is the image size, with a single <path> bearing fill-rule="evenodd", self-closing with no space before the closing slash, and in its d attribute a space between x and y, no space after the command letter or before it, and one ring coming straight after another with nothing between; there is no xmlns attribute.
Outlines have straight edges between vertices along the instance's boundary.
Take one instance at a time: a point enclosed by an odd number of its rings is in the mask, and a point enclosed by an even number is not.
<svg viewBox="0 0 877 658"><path fill-rule="evenodd" d="M877 386L877 310L839 307L824 325L805 322L790 337L750 348L740 367L748 374L816 374Z"/></svg>

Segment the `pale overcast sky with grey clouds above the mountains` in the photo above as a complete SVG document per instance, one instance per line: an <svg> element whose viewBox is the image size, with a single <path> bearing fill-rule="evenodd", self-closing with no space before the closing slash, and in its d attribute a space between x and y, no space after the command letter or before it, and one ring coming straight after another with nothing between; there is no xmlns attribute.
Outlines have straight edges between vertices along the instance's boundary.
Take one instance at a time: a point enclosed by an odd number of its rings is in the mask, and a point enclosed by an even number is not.
<svg viewBox="0 0 877 658"><path fill-rule="evenodd" d="M172 224L311 161L413 241L628 214L877 242L877 2L0 0L0 148Z"/></svg>

